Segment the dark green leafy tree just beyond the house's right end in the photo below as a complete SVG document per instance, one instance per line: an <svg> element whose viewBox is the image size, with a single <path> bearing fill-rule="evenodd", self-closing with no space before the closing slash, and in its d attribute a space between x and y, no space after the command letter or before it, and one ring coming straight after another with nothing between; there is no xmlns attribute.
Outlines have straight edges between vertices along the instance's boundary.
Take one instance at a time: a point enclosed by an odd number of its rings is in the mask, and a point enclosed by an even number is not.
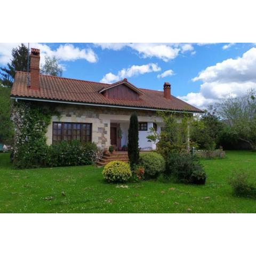
<svg viewBox="0 0 256 256"><path fill-rule="evenodd" d="M218 143L223 124L216 111L216 108L210 105L208 110L201 117L195 118L191 125L190 138L199 148L214 150Z"/></svg>

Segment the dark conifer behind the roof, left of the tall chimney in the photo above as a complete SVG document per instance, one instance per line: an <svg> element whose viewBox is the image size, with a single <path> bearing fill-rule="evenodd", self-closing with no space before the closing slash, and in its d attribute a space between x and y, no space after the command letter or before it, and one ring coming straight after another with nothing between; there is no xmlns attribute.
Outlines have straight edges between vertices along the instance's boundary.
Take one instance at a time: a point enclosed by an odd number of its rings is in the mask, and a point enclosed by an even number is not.
<svg viewBox="0 0 256 256"><path fill-rule="evenodd" d="M11 62L7 63L7 67L0 68L0 80L3 86L12 87L16 71L27 71L28 51L25 44L12 49Z"/></svg>

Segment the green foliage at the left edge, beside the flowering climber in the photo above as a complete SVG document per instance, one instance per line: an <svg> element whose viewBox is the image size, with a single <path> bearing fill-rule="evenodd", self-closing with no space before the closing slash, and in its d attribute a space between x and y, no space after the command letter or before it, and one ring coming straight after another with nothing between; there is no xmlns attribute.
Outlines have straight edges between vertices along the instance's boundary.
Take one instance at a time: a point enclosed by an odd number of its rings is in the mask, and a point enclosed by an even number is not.
<svg viewBox="0 0 256 256"><path fill-rule="evenodd" d="M0 142L12 144L13 123L11 121L11 89L0 85Z"/></svg>

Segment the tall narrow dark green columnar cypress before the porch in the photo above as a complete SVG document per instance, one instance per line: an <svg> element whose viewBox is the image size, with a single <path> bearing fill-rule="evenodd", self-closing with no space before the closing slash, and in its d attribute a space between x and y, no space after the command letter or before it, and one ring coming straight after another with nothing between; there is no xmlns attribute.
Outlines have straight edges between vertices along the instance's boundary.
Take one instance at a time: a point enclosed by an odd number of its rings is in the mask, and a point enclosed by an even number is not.
<svg viewBox="0 0 256 256"><path fill-rule="evenodd" d="M137 114L134 112L130 117L130 125L128 130L128 157L131 168L139 163L139 123Z"/></svg>

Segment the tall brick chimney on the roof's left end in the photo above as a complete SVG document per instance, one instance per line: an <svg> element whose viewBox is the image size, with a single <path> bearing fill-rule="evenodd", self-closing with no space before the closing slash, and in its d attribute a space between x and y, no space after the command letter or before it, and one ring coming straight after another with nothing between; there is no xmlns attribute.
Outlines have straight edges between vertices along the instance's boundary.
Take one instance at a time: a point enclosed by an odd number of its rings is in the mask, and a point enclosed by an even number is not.
<svg viewBox="0 0 256 256"><path fill-rule="evenodd" d="M30 89L39 90L40 50L31 48L30 53Z"/></svg>

